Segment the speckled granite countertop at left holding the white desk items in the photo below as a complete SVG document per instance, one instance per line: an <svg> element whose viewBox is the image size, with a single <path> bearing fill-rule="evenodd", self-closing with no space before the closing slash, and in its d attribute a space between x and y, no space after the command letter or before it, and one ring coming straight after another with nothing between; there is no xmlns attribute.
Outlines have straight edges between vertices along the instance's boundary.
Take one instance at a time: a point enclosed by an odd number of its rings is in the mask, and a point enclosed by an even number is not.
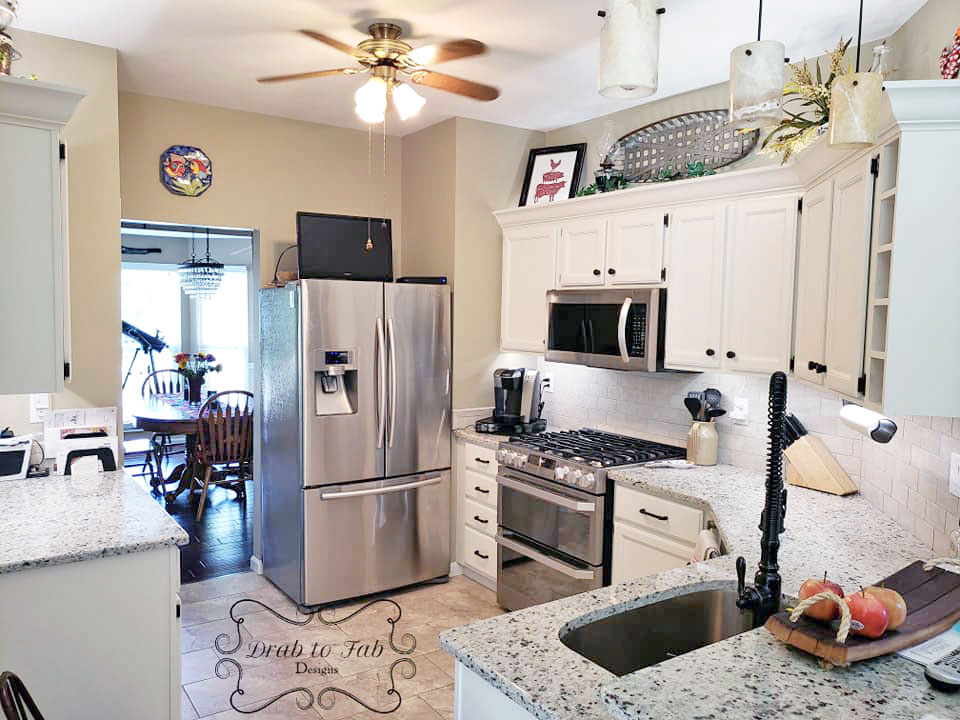
<svg viewBox="0 0 960 720"><path fill-rule="evenodd" d="M123 471L0 482L0 573L189 541Z"/></svg>

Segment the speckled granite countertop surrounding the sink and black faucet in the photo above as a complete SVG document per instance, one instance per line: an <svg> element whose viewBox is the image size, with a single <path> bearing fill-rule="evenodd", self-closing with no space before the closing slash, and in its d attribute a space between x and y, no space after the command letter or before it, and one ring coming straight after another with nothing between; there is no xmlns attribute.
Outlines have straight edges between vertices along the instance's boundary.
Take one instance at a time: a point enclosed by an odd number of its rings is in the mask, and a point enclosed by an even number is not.
<svg viewBox="0 0 960 720"><path fill-rule="evenodd" d="M710 513L727 554L449 630L440 636L444 650L543 720L958 717L956 698L931 690L918 665L888 656L822 670L763 628L622 678L566 648L560 635L593 620L695 590L733 589L737 555L747 558L748 576L759 560L761 473L720 465L612 477ZM930 554L857 495L789 488L780 552L788 595L824 571L855 587Z"/></svg>

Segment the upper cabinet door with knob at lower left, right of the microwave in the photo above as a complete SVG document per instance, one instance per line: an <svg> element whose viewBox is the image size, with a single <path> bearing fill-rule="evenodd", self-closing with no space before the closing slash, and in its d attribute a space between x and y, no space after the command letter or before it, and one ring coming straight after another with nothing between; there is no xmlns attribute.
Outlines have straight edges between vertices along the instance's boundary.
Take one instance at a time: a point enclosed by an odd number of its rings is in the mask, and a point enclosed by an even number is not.
<svg viewBox="0 0 960 720"><path fill-rule="evenodd" d="M797 195L782 195L735 206L727 242L726 370L789 369L797 200Z"/></svg>

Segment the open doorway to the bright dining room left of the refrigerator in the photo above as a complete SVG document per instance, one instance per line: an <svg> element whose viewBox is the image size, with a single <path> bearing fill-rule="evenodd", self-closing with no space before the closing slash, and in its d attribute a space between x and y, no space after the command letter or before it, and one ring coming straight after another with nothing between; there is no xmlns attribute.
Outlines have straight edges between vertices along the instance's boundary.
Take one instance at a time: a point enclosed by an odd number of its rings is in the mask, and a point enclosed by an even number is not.
<svg viewBox="0 0 960 720"><path fill-rule="evenodd" d="M184 583L248 570L253 555L252 473L238 471L232 488L211 486L199 520L198 482L181 481L195 435L186 415L199 405L186 397L176 356L212 358L201 399L254 392L257 244L256 231L243 228L121 222L124 465L190 535L180 554ZM209 296L190 295L182 265L208 255L222 276ZM157 416L167 410L185 422L164 425Z"/></svg>

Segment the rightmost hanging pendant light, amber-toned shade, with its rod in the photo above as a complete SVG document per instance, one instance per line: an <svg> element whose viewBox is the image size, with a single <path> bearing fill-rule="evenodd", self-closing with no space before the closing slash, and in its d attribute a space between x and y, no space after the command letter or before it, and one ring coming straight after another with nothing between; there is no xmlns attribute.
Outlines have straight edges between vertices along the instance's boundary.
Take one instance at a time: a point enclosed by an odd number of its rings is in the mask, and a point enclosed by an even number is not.
<svg viewBox="0 0 960 720"><path fill-rule="evenodd" d="M857 150L877 144L877 121L883 97L883 75L860 72L863 0L857 29L857 71L839 75L830 90L830 146Z"/></svg>

